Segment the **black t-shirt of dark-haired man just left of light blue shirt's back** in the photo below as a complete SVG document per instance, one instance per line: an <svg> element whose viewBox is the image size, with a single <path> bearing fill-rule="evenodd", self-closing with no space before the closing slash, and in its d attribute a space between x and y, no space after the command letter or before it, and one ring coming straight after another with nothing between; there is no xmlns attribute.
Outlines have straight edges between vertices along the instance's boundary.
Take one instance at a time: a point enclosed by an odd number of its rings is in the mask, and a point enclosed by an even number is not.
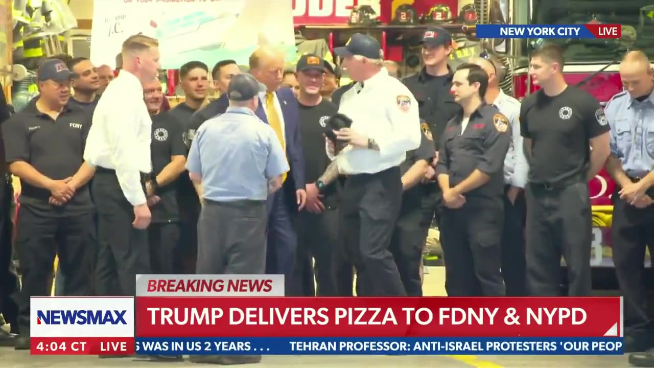
<svg viewBox="0 0 654 368"><path fill-rule="evenodd" d="M196 109L186 105L186 103L180 103L168 111L171 117L174 117L175 120L177 120L180 130L182 130L182 139L186 147L186 155L188 155L188 149L191 147L191 139L189 139L188 132L184 127L191 121L191 117L196 111ZM179 215L181 220L188 221L196 218L200 211L200 202L198 193L193 186L193 182L191 181L191 178L188 177L188 171L182 172L177 183L177 199L179 201Z"/></svg>

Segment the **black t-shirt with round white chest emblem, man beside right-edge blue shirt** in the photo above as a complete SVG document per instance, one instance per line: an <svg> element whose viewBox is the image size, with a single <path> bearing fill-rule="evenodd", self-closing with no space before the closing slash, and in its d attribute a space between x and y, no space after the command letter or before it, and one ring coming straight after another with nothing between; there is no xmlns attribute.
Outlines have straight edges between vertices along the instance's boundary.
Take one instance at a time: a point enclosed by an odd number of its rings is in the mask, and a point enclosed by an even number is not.
<svg viewBox="0 0 654 368"><path fill-rule="evenodd" d="M559 183L585 177L590 165L590 139L610 130L599 101L568 86L557 96L543 90L523 100L520 130L531 139L529 181Z"/></svg>

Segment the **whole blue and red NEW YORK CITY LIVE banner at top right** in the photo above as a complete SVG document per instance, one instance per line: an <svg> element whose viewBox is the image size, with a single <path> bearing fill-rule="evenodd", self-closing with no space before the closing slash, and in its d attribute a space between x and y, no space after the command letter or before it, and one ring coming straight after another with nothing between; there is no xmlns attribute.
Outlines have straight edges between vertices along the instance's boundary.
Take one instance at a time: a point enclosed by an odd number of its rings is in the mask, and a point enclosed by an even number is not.
<svg viewBox="0 0 654 368"><path fill-rule="evenodd" d="M619 39L619 24L477 24L480 39Z"/></svg>

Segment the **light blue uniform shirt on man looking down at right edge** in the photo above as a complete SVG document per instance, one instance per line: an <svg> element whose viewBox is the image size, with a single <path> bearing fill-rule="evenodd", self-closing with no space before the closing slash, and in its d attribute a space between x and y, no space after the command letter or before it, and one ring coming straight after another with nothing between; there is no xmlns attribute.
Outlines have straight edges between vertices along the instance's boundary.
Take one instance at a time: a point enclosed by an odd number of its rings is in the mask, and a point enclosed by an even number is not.
<svg viewBox="0 0 654 368"><path fill-rule="evenodd" d="M627 175L646 175L654 166L654 94L638 101L627 91L620 92L607 103L604 114L611 126L611 155Z"/></svg>

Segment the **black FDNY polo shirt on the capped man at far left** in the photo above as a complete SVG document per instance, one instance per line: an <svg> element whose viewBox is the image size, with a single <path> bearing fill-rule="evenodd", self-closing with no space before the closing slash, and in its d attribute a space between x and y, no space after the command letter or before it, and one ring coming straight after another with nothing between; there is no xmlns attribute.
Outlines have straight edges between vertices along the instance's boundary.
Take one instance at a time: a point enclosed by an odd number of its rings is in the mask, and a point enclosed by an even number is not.
<svg viewBox="0 0 654 368"><path fill-rule="evenodd" d="M91 119L81 109L67 105L56 120L41 113L36 103L2 124L7 164L24 161L50 179L72 177L84 162L84 147ZM88 183L78 188L63 206L48 204L50 191L22 181L21 206L44 216L69 216L94 209Z"/></svg>

